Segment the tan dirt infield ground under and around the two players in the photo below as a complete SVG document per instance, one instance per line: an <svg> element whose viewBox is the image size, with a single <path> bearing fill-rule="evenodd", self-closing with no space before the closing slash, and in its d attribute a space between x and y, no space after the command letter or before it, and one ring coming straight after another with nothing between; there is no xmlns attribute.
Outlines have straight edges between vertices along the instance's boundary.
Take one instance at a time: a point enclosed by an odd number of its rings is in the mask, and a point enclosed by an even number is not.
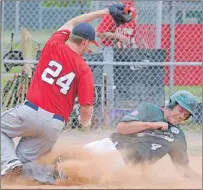
<svg viewBox="0 0 203 190"><path fill-rule="evenodd" d="M72 145L82 145L94 140L108 137L111 131L97 132L77 132L65 131L62 137L54 147L54 152L59 149L69 149ZM202 133L187 131L186 138L188 140L188 152L190 156L190 166L202 174ZM180 177L171 163L169 156L164 157L153 166L147 168L143 172L143 167L123 168L120 172L113 172L112 163L114 156L106 156L105 158L91 157L82 153L81 150L74 149L73 152L77 157L83 158L79 161L73 160L70 168L74 172L77 169L82 175L87 176L86 179L77 178L72 183L63 184L58 182L57 186L38 185L28 181L18 181L10 183L2 183L3 189L112 189L112 188L132 188L132 189L202 189L201 181L190 181ZM47 157L46 157L47 158ZM49 156L50 158L50 156ZM49 160L50 161L50 160ZM64 165L63 167L68 167ZM83 170L81 169L83 168ZM142 172L141 172L142 171ZM90 180L91 179L91 180Z"/></svg>

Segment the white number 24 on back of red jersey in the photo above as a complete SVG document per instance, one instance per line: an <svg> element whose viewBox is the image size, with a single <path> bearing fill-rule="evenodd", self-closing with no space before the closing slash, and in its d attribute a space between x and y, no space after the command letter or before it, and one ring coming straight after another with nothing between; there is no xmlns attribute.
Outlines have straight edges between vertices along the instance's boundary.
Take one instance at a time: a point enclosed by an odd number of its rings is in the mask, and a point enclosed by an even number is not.
<svg viewBox="0 0 203 190"><path fill-rule="evenodd" d="M70 89L70 85L73 82L73 79L75 78L75 73L68 73L56 80L56 77L59 76L63 69L62 65L57 63L56 61L50 61L48 65L51 68L46 68L44 70L44 72L42 73L42 80L51 85L54 84L54 82L56 81L56 84L61 87L60 92L66 95L68 90ZM55 70L54 67L56 68Z"/></svg>

